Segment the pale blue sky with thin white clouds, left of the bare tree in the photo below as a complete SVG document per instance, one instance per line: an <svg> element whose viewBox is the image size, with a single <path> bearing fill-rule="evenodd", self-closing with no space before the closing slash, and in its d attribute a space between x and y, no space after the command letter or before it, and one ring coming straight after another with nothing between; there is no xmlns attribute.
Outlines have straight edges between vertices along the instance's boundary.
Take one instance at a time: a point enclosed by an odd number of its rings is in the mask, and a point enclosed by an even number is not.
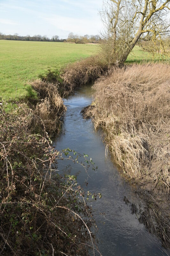
<svg viewBox="0 0 170 256"><path fill-rule="evenodd" d="M0 32L6 35L100 34L103 0L0 0Z"/></svg>

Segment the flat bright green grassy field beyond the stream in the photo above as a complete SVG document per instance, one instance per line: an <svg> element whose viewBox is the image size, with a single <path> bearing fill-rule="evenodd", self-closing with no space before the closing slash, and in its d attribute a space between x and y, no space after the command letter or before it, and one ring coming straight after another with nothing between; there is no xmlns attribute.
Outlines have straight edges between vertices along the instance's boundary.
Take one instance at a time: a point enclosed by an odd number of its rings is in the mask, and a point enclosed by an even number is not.
<svg viewBox="0 0 170 256"><path fill-rule="evenodd" d="M62 66L95 54L98 50L96 44L0 40L0 98L18 100L36 97L28 84L29 80L44 75L49 68L59 71ZM143 60L151 60L151 56L136 46L127 62Z"/></svg>

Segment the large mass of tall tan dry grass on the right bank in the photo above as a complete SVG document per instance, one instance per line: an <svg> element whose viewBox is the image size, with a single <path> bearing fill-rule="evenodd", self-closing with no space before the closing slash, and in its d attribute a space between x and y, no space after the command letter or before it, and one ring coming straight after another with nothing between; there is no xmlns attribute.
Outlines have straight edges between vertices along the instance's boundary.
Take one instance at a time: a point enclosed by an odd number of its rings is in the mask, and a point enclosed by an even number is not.
<svg viewBox="0 0 170 256"><path fill-rule="evenodd" d="M150 177L157 188L170 185L170 66L115 68L94 85L95 128L131 178Z"/></svg>

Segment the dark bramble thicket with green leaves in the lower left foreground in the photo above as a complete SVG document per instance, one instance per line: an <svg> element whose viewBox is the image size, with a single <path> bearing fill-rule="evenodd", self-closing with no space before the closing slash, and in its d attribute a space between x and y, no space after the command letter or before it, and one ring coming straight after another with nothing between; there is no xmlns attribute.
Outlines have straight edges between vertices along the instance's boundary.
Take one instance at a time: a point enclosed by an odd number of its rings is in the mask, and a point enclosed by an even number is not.
<svg viewBox="0 0 170 256"><path fill-rule="evenodd" d="M0 254L89 255L91 208L75 176L58 172L62 154L33 133L33 115L0 107Z"/></svg>

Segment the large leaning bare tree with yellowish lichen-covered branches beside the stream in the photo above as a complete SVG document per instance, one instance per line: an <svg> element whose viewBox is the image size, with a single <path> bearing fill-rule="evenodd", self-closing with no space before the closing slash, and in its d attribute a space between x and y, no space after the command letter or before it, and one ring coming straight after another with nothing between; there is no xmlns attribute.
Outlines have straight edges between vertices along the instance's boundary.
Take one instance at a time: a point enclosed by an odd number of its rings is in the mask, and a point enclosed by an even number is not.
<svg viewBox="0 0 170 256"><path fill-rule="evenodd" d="M159 40L169 33L170 0L104 0L100 12L105 29L103 49L110 55L110 63L122 65L141 40ZM105 50L106 51L106 50Z"/></svg>

